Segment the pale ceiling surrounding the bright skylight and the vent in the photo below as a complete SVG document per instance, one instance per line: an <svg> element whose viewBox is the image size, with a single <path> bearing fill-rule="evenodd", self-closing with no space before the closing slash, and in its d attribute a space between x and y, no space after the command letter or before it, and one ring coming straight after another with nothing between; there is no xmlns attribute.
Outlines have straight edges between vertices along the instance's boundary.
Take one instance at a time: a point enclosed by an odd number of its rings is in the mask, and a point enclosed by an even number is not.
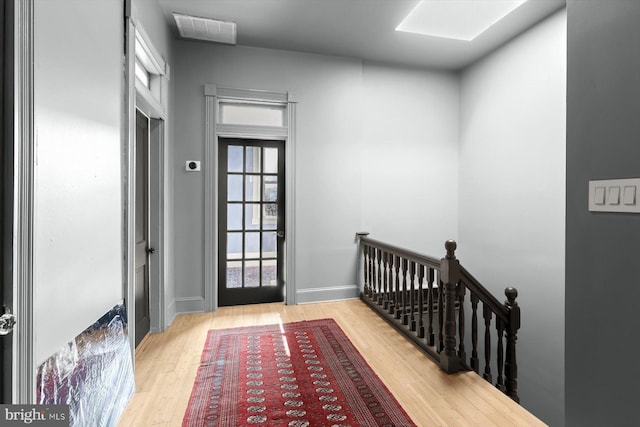
<svg viewBox="0 0 640 427"><path fill-rule="evenodd" d="M561 9L566 0L529 0L470 42L395 31L418 0L159 0L159 3L176 37L172 12L237 22L241 46L457 70Z"/></svg>

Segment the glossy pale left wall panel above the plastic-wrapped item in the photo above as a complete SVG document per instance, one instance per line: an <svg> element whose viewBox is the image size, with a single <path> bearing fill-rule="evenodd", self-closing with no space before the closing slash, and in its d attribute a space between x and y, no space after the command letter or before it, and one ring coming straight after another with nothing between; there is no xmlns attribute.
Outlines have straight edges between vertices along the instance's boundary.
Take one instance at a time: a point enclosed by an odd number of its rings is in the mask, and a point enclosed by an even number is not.
<svg viewBox="0 0 640 427"><path fill-rule="evenodd" d="M122 295L119 0L35 1L35 362Z"/></svg>

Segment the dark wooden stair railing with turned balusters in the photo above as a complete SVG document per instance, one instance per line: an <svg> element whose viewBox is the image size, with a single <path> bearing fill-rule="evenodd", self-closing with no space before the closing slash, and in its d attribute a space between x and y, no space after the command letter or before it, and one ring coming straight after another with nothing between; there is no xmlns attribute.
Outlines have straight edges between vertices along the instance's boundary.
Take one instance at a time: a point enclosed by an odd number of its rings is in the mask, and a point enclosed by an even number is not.
<svg viewBox="0 0 640 427"><path fill-rule="evenodd" d="M361 299L448 372L473 370L511 399L518 397L516 340L520 329L518 291L507 288L500 303L455 256L457 244L445 242L446 255L427 255L357 233ZM469 291L469 303L465 295ZM482 303L484 340L478 339L478 306ZM466 315L471 315L471 330ZM491 327L497 339L492 342ZM505 349L506 341L506 349ZM467 359L466 345L471 354ZM495 359L492 359L495 350ZM479 358L483 353L483 360Z"/></svg>

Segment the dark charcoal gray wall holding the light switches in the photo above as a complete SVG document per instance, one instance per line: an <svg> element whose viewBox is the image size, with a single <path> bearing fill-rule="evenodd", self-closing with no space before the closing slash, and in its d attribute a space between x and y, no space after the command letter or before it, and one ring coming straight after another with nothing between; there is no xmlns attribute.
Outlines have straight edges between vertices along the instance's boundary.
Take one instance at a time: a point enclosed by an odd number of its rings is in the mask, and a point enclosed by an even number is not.
<svg viewBox="0 0 640 427"><path fill-rule="evenodd" d="M640 2L567 3L566 421L638 425L640 216L588 212L587 185L640 176Z"/></svg>

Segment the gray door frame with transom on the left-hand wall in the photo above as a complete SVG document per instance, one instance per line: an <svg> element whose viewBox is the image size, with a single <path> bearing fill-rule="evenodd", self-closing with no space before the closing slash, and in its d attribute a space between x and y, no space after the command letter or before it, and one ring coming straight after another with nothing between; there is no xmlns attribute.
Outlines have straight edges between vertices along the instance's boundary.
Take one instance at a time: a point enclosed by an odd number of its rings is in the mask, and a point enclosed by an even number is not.
<svg viewBox="0 0 640 427"><path fill-rule="evenodd" d="M167 189L169 170L167 158L167 126L169 65L154 48L142 24L134 17L135 8L127 1L125 56L125 135L124 176L124 269L123 295L129 318L129 343L135 368L135 117L136 109L149 117L149 245L155 253L149 262L150 332L167 328L165 294L168 282L168 230L165 216L169 211ZM144 55L154 84L147 88L135 76L136 58Z"/></svg>

